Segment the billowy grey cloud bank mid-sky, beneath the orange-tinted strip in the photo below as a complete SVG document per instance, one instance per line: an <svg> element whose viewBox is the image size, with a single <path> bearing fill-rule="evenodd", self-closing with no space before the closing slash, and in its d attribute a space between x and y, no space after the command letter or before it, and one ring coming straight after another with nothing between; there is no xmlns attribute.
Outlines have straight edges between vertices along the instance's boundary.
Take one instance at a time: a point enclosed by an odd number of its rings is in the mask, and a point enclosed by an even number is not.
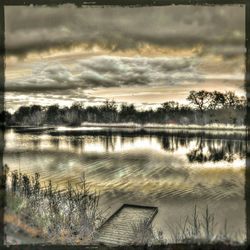
<svg viewBox="0 0 250 250"><path fill-rule="evenodd" d="M197 63L195 58L95 56L78 61L75 74L59 63L40 64L29 77L7 80L6 91L65 94L98 87L181 84L198 78Z"/></svg>

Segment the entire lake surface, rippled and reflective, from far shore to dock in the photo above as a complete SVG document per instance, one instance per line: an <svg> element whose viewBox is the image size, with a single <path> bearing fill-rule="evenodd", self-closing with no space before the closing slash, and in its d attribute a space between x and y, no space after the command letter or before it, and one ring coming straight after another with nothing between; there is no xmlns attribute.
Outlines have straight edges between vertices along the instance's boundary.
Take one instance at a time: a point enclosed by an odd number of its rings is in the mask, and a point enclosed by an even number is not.
<svg viewBox="0 0 250 250"><path fill-rule="evenodd" d="M196 204L215 215L216 231L227 221L232 238L245 229L244 134L216 131L85 128L56 133L5 132L4 163L11 170L39 172L42 181L64 186L82 173L100 191L109 214L123 203L154 205L156 228L169 227Z"/></svg>

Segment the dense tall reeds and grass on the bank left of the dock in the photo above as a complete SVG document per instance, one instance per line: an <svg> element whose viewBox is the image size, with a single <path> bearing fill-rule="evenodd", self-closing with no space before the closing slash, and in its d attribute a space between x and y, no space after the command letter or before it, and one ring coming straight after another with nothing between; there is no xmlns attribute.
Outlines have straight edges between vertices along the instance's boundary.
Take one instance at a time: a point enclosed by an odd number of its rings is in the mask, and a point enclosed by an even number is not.
<svg viewBox="0 0 250 250"><path fill-rule="evenodd" d="M30 177L17 171L7 173L6 214L52 244L90 244L104 217L98 210L99 194L91 192L85 177L81 184L58 190L49 182L41 187L39 174ZM11 216L12 215L12 216ZM21 225L21 224L20 224Z"/></svg>

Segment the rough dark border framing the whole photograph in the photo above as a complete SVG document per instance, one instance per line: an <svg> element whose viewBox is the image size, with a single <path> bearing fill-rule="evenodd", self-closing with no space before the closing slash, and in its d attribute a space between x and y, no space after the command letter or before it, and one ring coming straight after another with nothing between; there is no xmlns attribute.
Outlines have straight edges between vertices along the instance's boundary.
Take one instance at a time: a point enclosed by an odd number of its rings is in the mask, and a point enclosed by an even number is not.
<svg viewBox="0 0 250 250"><path fill-rule="evenodd" d="M34 3L35 2L35 3ZM246 112L246 171L245 171L245 200L246 200L246 244L250 244L250 0L3 0L0 1L0 112L4 110L4 83L5 83L5 6L23 5L46 5L57 6L61 4L75 4L78 7L87 5L116 5L116 6L166 6L166 5L245 5L245 35L246 35L246 74L245 89L247 94ZM3 179L3 151L4 151L4 128L0 131L0 248L1 249L111 249L106 246L56 246L56 245L17 245L4 246L4 208L5 208L5 181ZM2 248L3 246L3 248ZM187 245L173 244L171 249L185 249ZM203 248L204 247L204 248ZM130 248L130 247L129 247ZM169 248L169 247L168 247ZM189 247L188 247L189 248ZM192 249L246 249L246 246L212 246L212 245L190 245ZM118 247L127 249L127 247ZM165 249L156 247L133 247L130 249Z"/></svg>

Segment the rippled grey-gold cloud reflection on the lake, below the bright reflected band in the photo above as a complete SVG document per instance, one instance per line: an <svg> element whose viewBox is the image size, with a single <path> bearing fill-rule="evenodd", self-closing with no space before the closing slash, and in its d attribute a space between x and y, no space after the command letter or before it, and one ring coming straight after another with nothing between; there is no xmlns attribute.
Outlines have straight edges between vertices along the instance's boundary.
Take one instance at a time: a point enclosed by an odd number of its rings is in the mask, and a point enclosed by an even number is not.
<svg viewBox="0 0 250 250"><path fill-rule="evenodd" d="M61 143L56 149L51 147L42 152L39 148L23 151L21 170L39 172L43 180L52 176L53 182L59 181L59 184L66 184L70 177L78 182L84 171L88 182L102 194L117 192L118 197L125 195L134 199L232 199L242 198L244 194L244 162L238 169L232 168L233 163L223 168L213 163L213 167L204 169L202 166L187 165L182 155L163 155L152 150L88 153L82 151L82 145L76 147L75 150L80 152L76 154L62 150ZM5 162L11 169L18 168L16 159L15 150L5 152Z"/></svg>

